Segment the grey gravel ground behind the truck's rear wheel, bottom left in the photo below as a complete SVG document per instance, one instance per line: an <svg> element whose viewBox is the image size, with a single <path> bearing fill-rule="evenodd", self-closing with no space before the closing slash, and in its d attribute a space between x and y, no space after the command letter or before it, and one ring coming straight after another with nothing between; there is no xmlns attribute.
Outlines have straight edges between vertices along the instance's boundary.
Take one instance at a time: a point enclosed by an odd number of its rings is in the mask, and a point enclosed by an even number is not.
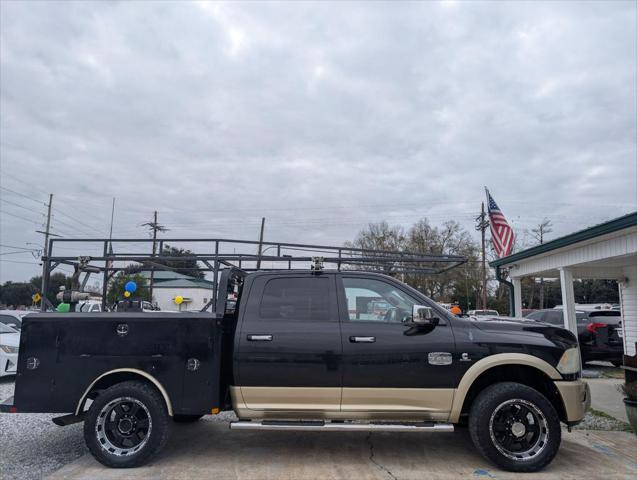
<svg viewBox="0 0 637 480"><path fill-rule="evenodd" d="M14 378L0 379L0 400L13 395ZM0 478L38 479L88 452L82 424L58 427L46 414L0 414Z"/></svg>

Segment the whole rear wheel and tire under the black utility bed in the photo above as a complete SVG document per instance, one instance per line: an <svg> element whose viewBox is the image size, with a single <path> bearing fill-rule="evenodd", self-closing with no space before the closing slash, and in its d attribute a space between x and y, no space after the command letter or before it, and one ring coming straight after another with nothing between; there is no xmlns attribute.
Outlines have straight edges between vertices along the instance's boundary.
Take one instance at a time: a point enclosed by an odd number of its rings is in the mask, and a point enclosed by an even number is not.
<svg viewBox="0 0 637 480"><path fill-rule="evenodd" d="M161 395L136 381L106 389L91 404L84 440L107 467L130 468L148 462L166 443L170 417Z"/></svg>

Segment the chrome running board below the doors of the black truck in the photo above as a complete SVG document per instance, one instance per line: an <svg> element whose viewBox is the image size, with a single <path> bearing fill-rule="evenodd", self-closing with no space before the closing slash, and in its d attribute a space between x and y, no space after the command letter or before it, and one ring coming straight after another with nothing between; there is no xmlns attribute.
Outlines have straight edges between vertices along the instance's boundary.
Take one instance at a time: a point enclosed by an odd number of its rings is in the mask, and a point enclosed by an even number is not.
<svg viewBox="0 0 637 480"><path fill-rule="evenodd" d="M285 420L263 420L249 421L240 420L230 422L232 430L301 430L301 431L331 431L331 432L453 432L453 425L450 423L434 422L370 422L370 423L348 423L348 422L323 422L323 421L285 421Z"/></svg>

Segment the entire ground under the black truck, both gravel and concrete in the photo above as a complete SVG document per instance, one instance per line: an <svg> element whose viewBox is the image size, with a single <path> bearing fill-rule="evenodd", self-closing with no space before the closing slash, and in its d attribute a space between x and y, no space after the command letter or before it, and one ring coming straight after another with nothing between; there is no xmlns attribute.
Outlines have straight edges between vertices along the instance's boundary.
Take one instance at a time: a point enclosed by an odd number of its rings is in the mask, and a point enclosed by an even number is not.
<svg viewBox="0 0 637 480"><path fill-rule="evenodd" d="M0 380L0 398L12 395ZM0 478L12 479L446 479L515 478L484 461L466 430L453 434L236 432L232 415L175 425L146 467L111 470L86 453L81 425L53 415L0 415ZM48 476L48 477L47 477ZM637 437L580 430L563 434L557 459L533 479L636 478Z"/></svg>

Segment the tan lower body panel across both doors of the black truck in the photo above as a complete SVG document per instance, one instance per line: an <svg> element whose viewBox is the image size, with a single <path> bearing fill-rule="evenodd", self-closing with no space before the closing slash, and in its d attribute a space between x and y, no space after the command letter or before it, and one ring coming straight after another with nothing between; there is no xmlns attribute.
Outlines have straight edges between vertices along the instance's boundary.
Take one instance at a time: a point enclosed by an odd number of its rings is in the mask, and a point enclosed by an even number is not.
<svg viewBox="0 0 637 480"><path fill-rule="evenodd" d="M230 394L235 412L244 419L444 421L449 417L454 390L230 387Z"/></svg>

